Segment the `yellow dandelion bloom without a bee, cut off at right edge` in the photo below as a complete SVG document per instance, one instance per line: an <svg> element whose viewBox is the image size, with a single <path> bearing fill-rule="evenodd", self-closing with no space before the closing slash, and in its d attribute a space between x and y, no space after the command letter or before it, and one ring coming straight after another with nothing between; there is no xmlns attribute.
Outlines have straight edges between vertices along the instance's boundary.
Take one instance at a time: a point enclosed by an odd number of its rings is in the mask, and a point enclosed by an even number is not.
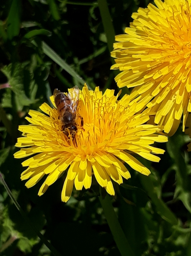
<svg viewBox="0 0 191 256"><path fill-rule="evenodd" d="M156 112L172 135L191 112L191 0L154 0L133 13L127 35L116 36L112 56L118 86L134 87L130 100Z"/></svg>

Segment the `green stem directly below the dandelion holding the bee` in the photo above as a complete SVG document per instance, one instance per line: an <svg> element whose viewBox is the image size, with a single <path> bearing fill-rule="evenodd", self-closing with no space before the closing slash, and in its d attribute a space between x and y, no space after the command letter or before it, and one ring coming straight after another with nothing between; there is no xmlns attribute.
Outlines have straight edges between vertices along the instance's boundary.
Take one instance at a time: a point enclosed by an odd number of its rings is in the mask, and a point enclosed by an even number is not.
<svg viewBox="0 0 191 256"><path fill-rule="evenodd" d="M117 244L117 247L121 253L121 256L134 256L134 253L120 226L116 213L113 210L110 197L106 195L106 197L103 199L102 196L100 196L99 200L104 210L105 218L110 227L115 243Z"/></svg>

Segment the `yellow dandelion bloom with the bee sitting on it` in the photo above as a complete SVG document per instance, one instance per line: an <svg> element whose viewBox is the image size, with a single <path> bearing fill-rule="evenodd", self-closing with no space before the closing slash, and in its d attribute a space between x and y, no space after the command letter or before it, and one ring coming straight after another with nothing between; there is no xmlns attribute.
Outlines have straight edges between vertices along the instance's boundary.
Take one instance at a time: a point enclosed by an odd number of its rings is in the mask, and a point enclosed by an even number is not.
<svg viewBox="0 0 191 256"><path fill-rule="evenodd" d="M163 154L164 150L151 144L166 142L167 137L155 134L160 131L159 126L144 124L149 120L148 114L135 114L136 103L129 106L128 95L119 101L117 97L114 90L107 89L102 94L98 87L89 91L85 85L80 91L77 109L77 116L83 117L84 124L81 127L79 118L74 140L63 133L57 109L44 103L40 109L45 114L29 111L31 118L26 119L31 124L19 126L24 137L18 138L16 144L27 148L15 153L16 158L36 154L22 163L28 167L21 174L22 180L29 179L26 187L34 186L48 175L39 190L42 195L67 170L62 190L62 201L66 202L73 185L76 190L91 187L92 175L101 187L114 195L112 180L120 184L122 178L130 178L121 160L149 175L150 171L131 153L158 162L160 158L153 154ZM50 99L55 106L53 97Z"/></svg>

